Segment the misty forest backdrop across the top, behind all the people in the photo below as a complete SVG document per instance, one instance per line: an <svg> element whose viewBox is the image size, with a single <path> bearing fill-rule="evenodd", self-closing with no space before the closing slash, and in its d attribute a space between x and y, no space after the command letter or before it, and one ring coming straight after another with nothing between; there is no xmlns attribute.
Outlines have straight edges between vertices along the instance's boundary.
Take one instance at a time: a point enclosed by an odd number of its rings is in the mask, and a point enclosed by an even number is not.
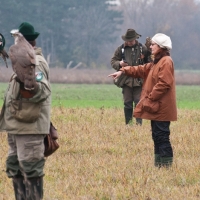
<svg viewBox="0 0 200 200"><path fill-rule="evenodd" d="M199 69L200 4L195 0L6 0L0 16L5 49L13 44L10 31L30 22L40 32L37 46L51 68L110 69L121 35L133 28L143 44L147 36L167 34L175 68Z"/></svg>

